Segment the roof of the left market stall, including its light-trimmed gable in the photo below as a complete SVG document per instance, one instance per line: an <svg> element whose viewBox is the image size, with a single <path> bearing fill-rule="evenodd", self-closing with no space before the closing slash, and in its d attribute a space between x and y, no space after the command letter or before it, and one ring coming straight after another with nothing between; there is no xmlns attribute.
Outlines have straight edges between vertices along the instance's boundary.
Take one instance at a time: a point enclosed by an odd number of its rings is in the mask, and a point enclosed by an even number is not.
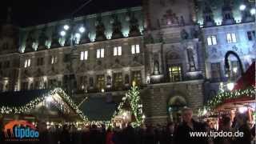
<svg viewBox="0 0 256 144"><path fill-rule="evenodd" d="M55 94L58 97L55 97ZM0 93L0 97L0 114L24 114L27 110L34 110L40 102L47 101L47 98L51 97L54 102L60 101L58 103L68 106L83 121L87 120L82 111L78 109L78 106L61 88L4 92ZM55 101L54 98L59 100Z"/></svg>

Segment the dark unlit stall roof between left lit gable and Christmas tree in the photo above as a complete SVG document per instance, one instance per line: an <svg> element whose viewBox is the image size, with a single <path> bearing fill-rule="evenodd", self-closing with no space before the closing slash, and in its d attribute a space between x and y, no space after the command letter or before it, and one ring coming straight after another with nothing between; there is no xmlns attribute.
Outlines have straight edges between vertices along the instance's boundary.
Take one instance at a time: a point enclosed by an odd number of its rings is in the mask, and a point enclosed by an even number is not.
<svg viewBox="0 0 256 144"><path fill-rule="evenodd" d="M107 102L106 97L87 98L79 107L89 121L110 121L117 108L118 102Z"/></svg>

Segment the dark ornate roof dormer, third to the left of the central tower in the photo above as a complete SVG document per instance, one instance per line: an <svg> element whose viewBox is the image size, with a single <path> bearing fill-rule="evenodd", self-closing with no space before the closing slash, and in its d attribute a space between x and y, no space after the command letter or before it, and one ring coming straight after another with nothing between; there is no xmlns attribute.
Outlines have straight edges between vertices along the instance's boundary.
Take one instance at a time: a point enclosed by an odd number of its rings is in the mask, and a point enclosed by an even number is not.
<svg viewBox="0 0 256 144"><path fill-rule="evenodd" d="M104 23L102 22L102 17L98 16L96 22L96 41L106 40L105 30L106 29Z"/></svg>

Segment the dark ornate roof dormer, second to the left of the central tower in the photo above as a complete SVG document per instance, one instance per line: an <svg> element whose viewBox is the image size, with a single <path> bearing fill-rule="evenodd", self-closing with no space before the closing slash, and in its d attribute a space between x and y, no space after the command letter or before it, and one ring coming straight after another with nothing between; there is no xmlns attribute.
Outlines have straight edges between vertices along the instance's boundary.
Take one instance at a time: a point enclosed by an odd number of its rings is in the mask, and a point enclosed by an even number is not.
<svg viewBox="0 0 256 144"><path fill-rule="evenodd" d="M123 38L122 34L122 23L118 20L118 16L116 14L112 15L113 24L112 24L112 37L111 38Z"/></svg>

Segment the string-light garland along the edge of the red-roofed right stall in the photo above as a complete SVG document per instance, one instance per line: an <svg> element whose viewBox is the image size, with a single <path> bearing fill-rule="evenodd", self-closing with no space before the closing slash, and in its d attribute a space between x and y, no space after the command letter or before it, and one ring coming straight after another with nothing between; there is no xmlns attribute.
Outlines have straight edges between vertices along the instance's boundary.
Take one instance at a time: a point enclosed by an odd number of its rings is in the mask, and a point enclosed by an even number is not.
<svg viewBox="0 0 256 144"><path fill-rule="evenodd" d="M235 90L231 92L223 92L218 95L216 95L214 98L212 98L210 101L206 103L206 106L204 106L202 109L198 110L198 116L204 116L206 114L214 114L213 110L217 106L221 105L222 102L229 98L240 98L242 96L255 98L255 89L250 88L246 90Z"/></svg>

